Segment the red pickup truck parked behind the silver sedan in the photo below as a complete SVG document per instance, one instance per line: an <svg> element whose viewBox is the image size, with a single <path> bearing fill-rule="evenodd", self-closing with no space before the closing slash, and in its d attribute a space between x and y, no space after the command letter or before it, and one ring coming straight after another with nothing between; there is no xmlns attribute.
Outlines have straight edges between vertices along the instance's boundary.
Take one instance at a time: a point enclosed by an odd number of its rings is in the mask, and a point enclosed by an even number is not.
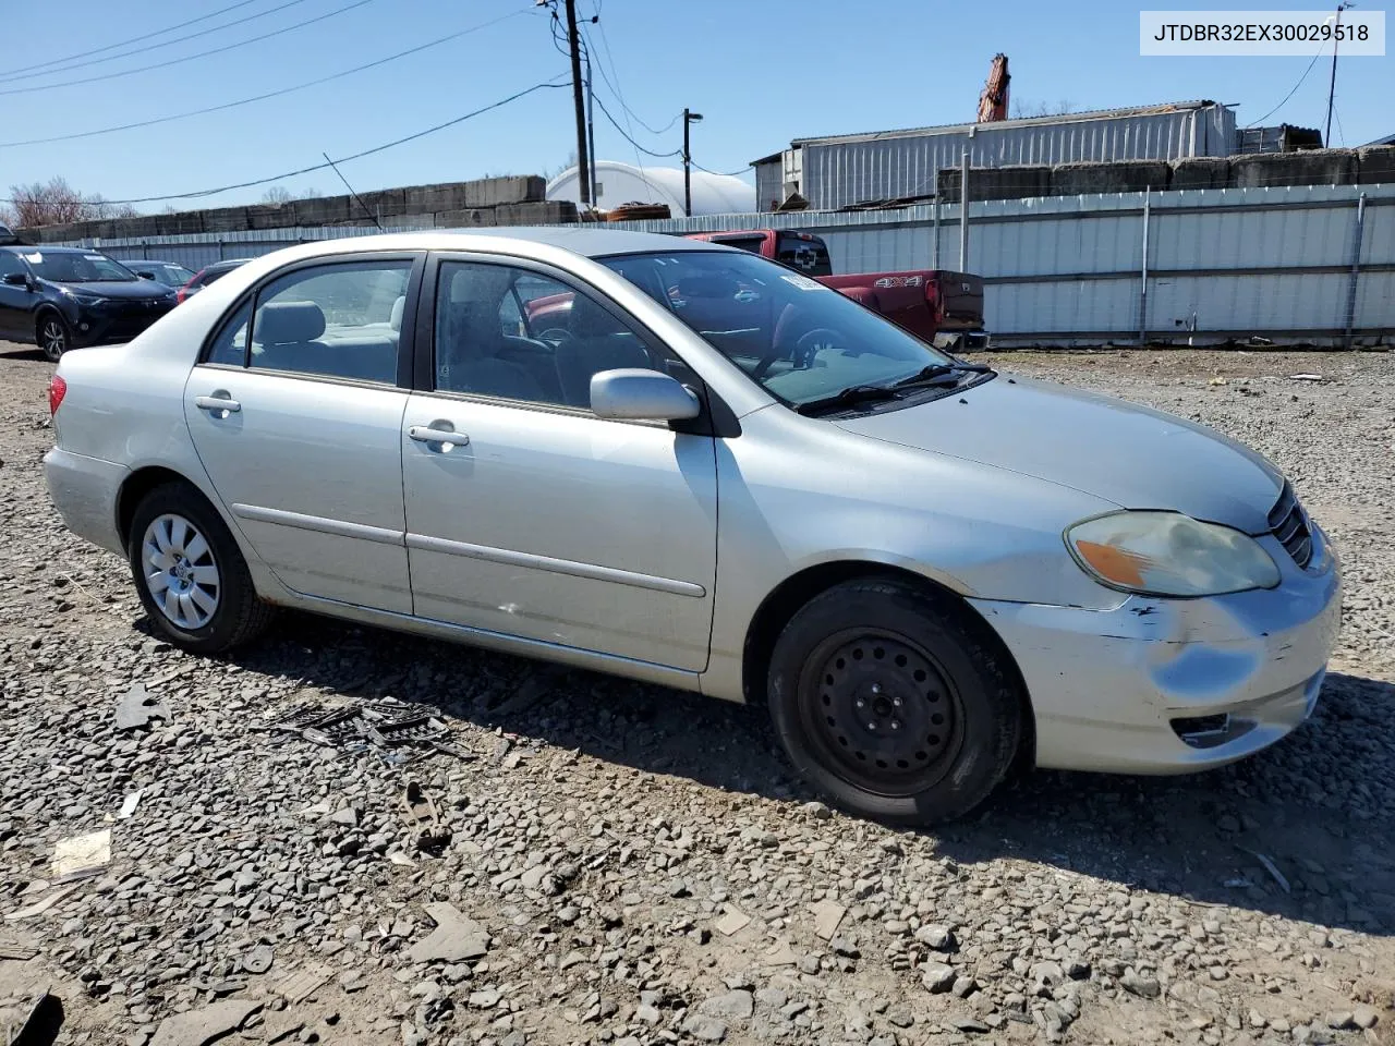
<svg viewBox="0 0 1395 1046"><path fill-rule="evenodd" d="M834 276L829 245L813 233L788 229L688 233L686 238L739 247L799 269L936 346L956 351L988 347L982 276L943 269Z"/></svg>

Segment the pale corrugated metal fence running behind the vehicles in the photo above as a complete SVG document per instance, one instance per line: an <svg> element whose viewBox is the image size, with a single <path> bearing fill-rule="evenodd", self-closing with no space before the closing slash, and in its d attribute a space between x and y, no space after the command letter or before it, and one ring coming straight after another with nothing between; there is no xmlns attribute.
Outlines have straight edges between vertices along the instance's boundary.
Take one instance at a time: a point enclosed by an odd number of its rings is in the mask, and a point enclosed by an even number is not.
<svg viewBox="0 0 1395 1046"><path fill-rule="evenodd" d="M1395 184L1297 185L970 204L968 269L988 282L986 321L1006 344L1275 344L1395 340ZM930 268L935 208L851 213L707 215L617 222L682 234L801 229L829 244L836 272ZM374 229L299 229L102 241L119 258L190 268ZM389 232L405 232L392 229ZM501 229L506 234L506 229ZM1360 251L1357 248L1360 234ZM88 244L91 245L91 244ZM958 206L940 213L939 268L958 268ZM1353 261L1356 262L1353 268Z"/></svg>

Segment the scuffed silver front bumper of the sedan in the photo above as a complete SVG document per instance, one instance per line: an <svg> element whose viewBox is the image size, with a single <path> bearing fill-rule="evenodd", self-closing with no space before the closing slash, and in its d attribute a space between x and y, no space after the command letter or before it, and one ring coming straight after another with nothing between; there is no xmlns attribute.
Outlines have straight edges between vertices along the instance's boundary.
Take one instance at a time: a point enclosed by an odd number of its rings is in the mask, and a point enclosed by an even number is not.
<svg viewBox="0 0 1395 1046"><path fill-rule="evenodd" d="M1130 596L1108 611L971 600L1007 644L1036 717L1036 764L1175 774L1258 752L1317 703L1341 625L1341 575L1314 526L1313 568L1261 540L1272 590Z"/></svg>

